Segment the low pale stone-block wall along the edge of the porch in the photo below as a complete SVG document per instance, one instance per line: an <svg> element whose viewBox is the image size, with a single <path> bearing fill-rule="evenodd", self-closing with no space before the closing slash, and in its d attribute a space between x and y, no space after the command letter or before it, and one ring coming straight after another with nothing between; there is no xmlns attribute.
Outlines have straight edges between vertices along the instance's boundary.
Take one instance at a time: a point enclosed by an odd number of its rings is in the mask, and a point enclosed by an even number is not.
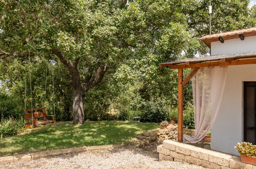
<svg viewBox="0 0 256 169"><path fill-rule="evenodd" d="M159 160L188 162L207 168L248 168L256 169L255 165L241 162L240 157L203 149L194 145L172 140L165 140L157 146Z"/></svg>

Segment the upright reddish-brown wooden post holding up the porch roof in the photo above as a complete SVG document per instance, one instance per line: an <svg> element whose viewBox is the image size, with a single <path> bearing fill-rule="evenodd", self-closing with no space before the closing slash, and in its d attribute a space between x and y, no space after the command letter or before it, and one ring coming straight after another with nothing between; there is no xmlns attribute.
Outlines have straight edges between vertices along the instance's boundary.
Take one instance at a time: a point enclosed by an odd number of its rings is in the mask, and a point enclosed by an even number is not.
<svg viewBox="0 0 256 169"><path fill-rule="evenodd" d="M183 142L183 69L178 69L178 141Z"/></svg>

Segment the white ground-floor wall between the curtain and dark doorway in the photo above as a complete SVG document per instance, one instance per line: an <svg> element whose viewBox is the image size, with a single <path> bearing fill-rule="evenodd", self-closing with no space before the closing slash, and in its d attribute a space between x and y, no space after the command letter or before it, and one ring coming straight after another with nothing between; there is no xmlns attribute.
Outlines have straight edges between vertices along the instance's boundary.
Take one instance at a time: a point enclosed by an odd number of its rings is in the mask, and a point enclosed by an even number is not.
<svg viewBox="0 0 256 169"><path fill-rule="evenodd" d="M211 149L239 155L243 141L243 81L256 81L256 64L229 66L219 114L211 130Z"/></svg>

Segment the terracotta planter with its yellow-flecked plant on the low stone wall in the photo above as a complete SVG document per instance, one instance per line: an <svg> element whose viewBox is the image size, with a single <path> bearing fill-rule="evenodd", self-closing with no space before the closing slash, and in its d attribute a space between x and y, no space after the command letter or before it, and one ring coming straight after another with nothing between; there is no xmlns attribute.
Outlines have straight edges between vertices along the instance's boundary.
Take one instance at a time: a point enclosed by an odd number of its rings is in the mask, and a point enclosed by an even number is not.
<svg viewBox="0 0 256 169"><path fill-rule="evenodd" d="M238 149L242 162L256 165L256 145L249 142L241 142L235 145L235 149Z"/></svg>

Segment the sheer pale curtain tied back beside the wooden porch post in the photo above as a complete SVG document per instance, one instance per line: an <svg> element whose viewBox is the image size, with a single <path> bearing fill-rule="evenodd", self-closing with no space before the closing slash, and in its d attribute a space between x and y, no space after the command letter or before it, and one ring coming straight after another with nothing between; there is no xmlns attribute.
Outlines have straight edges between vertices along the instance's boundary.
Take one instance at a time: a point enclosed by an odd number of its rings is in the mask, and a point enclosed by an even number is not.
<svg viewBox="0 0 256 169"><path fill-rule="evenodd" d="M193 77L195 132L192 136L184 134L183 142L199 142L211 130L219 113L226 77L227 66L201 68Z"/></svg>

